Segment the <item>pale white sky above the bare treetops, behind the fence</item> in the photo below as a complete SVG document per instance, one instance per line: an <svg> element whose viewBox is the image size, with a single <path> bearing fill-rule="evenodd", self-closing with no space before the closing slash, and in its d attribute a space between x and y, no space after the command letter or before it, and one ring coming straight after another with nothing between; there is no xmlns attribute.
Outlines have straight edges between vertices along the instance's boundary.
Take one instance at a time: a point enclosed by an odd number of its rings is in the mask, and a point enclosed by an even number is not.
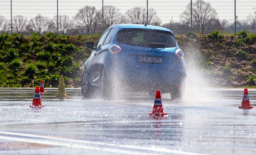
<svg viewBox="0 0 256 155"><path fill-rule="evenodd" d="M11 0L0 0L0 15L10 19ZM153 8L162 23L180 21L180 14L184 12L191 0L148 0L148 7ZM210 3L216 10L219 19L234 20L234 0L204 0ZM193 0L195 2L195 0ZM58 0L58 14L75 16L83 6L95 6L102 9L102 0ZM122 14L135 6L147 6L147 0L103 0L103 5L113 5L120 9ZM256 8L256 0L236 0L237 20L246 20L249 13L253 13ZM256 9L255 9L256 10ZM57 15L57 0L12 0L12 16L22 15L34 18L37 14L52 18Z"/></svg>

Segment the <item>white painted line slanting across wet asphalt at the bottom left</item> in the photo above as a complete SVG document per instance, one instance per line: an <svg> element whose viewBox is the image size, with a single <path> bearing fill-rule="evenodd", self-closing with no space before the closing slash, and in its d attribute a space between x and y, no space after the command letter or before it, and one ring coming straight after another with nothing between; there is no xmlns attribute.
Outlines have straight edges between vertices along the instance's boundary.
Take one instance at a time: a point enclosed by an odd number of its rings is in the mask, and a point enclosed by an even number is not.
<svg viewBox="0 0 256 155"><path fill-rule="evenodd" d="M2 134L2 136L0 136L0 139L3 139L3 140L40 143L45 145L72 147L72 148L88 149L88 150L98 150L98 151L106 151L106 152L113 152L113 153L119 153L119 154L131 154L131 155L144 155L144 154L151 155L152 154L153 155L156 153L157 154L172 153L172 154L181 154L181 155L203 155L203 154L198 154L193 152L170 150L170 149L164 149L164 148L158 148L158 147L120 145L120 144L94 142L94 141L87 141L87 140L76 140L76 139L70 139L70 138L41 136L41 135L35 135L35 134L14 133L14 132L4 132L4 131L0 131L0 134ZM20 136L22 138L13 137L13 136ZM38 138L38 139L31 139L31 138ZM54 141L51 141L51 140L54 140ZM87 145L84 145L84 144L87 144ZM109 147L106 147L106 146L109 146ZM136 149L138 151L125 150L125 149ZM139 150L143 150L143 151L139 151ZM154 151L154 152L149 153L145 151L149 151L149 152Z"/></svg>

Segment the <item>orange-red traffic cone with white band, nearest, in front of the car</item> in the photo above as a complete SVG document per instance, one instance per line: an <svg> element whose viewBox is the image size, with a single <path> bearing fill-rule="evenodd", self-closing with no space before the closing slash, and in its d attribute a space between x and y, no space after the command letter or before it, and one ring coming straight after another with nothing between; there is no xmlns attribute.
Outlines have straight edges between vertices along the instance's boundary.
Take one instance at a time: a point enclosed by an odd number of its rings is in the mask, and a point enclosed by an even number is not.
<svg viewBox="0 0 256 155"><path fill-rule="evenodd" d="M164 116L168 116L167 113L164 113L160 90L156 91L155 103L153 106L152 113L149 113L149 116L150 117L153 116L153 118L156 118L156 119L161 119Z"/></svg>

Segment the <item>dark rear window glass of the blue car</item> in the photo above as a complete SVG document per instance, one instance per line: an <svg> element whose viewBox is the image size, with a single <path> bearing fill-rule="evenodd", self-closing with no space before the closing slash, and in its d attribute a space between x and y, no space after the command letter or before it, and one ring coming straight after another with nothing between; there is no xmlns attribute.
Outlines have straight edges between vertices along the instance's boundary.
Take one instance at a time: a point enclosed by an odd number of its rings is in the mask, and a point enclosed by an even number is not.
<svg viewBox="0 0 256 155"><path fill-rule="evenodd" d="M121 44L142 47L171 48L176 46L176 40L171 32L142 28L120 30L116 40Z"/></svg>

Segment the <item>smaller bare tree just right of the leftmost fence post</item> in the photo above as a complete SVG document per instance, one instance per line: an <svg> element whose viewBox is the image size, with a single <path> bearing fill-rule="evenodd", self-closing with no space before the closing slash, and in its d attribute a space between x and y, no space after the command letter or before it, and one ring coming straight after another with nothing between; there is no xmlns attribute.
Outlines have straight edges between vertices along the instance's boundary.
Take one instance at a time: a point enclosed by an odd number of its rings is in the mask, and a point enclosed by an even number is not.
<svg viewBox="0 0 256 155"><path fill-rule="evenodd" d="M20 34L25 31L25 25L27 23L27 19L21 15L13 17L13 32Z"/></svg>

